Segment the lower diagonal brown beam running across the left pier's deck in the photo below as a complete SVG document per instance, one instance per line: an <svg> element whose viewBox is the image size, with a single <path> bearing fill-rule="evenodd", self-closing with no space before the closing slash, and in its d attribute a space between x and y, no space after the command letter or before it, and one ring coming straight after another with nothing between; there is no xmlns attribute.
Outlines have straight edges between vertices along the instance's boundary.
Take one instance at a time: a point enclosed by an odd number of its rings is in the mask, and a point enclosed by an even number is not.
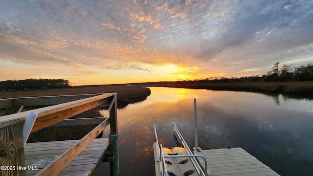
<svg viewBox="0 0 313 176"><path fill-rule="evenodd" d="M110 119L110 118L109 118ZM88 144L103 131L103 126L109 124L109 119L104 120L91 132L86 134L72 148L61 154L56 160L41 170L36 176L56 176L58 175L78 154L80 154Z"/></svg>

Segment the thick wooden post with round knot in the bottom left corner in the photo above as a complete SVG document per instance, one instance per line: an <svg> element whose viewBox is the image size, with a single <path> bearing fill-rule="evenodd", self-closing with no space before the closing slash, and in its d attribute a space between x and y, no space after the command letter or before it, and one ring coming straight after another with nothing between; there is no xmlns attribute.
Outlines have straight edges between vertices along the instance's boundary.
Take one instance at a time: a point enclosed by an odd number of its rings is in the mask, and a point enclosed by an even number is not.
<svg viewBox="0 0 313 176"><path fill-rule="evenodd" d="M0 166L0 176L26 176L21 123L0 129Z"/></svg>

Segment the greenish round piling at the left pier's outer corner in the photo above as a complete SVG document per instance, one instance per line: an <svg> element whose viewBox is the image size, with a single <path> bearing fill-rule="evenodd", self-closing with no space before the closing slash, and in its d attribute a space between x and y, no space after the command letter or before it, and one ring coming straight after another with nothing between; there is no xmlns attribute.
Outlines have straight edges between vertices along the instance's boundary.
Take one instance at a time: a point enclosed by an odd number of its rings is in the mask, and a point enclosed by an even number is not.
<svg viewBox="0 0 313 176"><path fill-rule="evenodd" d="M109 134L109 142L110 142L110 153L113 154L113 161L110 162L110 175L119 176L117 133Z"/></svg>

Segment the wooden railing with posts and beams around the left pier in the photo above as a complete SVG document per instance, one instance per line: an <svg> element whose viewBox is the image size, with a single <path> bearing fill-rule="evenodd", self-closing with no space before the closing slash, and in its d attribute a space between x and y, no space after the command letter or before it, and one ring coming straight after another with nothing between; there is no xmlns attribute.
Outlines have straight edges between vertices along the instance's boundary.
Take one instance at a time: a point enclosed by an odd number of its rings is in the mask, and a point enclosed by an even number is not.
<svg viewBox="0 0 313 176"><path fill-rule="evenodd" d="M83 99L81 99L83 98ZM73 101L74 100L74 101ZM69 102L70 101L70 102ZM66 103L64 103L66 102ZM58 104L61 103L61 104ZM107 104L110 105L109 118L89 118L89 119L67 119L94 107ZM37 112L38 116L31 132L36 132L48 126L64 126L69 120L74 123L87 123L90 121L100 122L100 124L79 140L72 148L60 155L47 167L41 170L38 176L53 176L60 173L88 144L98 136L105 127L110 124L111 139L110 143L117 145L117 107L116 93L87 94L87 95L68 95L68 96L49 96L49 97L28 97L1 99L0 109L14 106L33 106L33 105L53 105L36 110L28 110L20 113L5 115L0 117L0 165L1 166L25 166L24 148L22 139L22 126L29 112ZM110 135L109 135L110 139ZM116 149L112 149L117 151ZM111 151L110 151L111 152ZM118 175L118 154L114 162L110 163L113 173ZM112 174L112 173L111 173ZM24 170L0 170L0 176L24 176Z"/></svg>

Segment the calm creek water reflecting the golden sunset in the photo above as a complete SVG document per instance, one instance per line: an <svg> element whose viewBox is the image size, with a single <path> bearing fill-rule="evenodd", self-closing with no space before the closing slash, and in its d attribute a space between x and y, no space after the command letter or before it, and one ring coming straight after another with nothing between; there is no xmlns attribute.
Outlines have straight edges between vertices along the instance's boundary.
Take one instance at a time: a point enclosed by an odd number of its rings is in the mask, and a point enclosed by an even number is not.
<svg viewBox="0 0 313 176"><path fill-rule="evenodd" d="M189 147L195 145L194 98L202 149L241 147L282 176L312 175L313 100L250 92L150 89L145 101L117 112L120 176L154 176L154 124L163 146L175 146L173 123ZM107 111L102 113L108 116ZM104 163L96 174L109 170Z"/></svg>

